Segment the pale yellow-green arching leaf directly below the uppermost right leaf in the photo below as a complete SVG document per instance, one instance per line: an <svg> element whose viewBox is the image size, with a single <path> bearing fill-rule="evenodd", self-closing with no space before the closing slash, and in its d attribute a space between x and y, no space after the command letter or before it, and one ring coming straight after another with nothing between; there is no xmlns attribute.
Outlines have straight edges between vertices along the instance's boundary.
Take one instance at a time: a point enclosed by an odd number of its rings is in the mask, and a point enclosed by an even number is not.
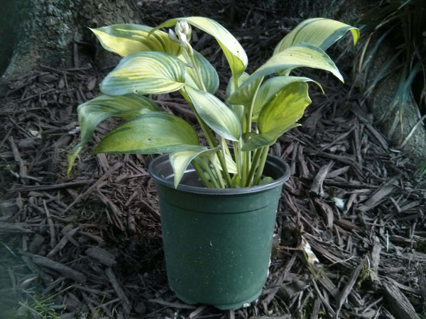
<svg viewBox="0 0 426 319"><path fill-rule="evenodd" d="M332 72L340 81L343 81L342 74L339 69L330 59L324 50L320 47L315 47L310 44L304 43L301 45L295 45L273 55L268 61L259 67L256 72L246 79L244 84L241 85L240 89L244 86L248 86L251 82L256 81L260 77L266 77L266 75L273 74L276 72L289 73L296 67L312 67L314 69L323 69L325 71ZM286 74L288 75L288 74Z"/></svg>

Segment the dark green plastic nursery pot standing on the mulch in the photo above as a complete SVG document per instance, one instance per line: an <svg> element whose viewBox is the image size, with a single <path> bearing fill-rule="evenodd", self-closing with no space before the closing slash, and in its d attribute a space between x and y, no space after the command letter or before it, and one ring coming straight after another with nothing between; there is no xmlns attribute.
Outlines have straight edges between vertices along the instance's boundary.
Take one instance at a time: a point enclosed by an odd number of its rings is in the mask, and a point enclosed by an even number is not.
<svg viewBox="0 0 426 319"><path fill-rule="evenodd" d="M168 155L149 173L160 203L170 288L185 303L220 309L256 300L268 277L276 211L290 168L269 156L264 174L273 182L241 189L207 189L187 169L177 189Z"/></svg>

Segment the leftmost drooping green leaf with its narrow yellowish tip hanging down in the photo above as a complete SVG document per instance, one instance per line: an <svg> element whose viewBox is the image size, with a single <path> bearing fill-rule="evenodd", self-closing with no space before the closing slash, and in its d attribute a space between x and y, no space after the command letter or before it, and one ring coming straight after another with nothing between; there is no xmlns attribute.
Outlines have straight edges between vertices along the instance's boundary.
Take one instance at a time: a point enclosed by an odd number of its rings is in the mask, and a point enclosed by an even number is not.
<svg viewBox="0 0 426 319"><path fill-rule="evenodd" d="M68 174L72 164L82 147L89 142L94 128L99 123L111 116L120 118L132 118L141 114L159 111L158 106L145 96L133 94L124 96L98 96L92 100L80 104L77 108L78 121L80 123L80 142L68 155Z"/></svg>

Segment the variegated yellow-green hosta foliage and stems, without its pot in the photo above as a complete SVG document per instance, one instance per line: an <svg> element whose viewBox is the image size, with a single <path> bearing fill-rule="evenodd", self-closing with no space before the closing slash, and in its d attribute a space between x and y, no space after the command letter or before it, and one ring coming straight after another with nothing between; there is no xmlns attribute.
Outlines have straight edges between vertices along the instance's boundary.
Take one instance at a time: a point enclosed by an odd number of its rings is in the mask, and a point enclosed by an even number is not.
<svg viewBox="0 0 426 319"><path fill-rule="evenodd" d="M174 30L172 29L174 27ZM168 28L168 32L160 29ZM226 99L215 94L217 71L190 43L192 28L212 35L222 48L231 78ZM310 67L331 72L343 81L324 52L351 31L339 21L312 18L300 23L275 47L272 57L255 72L246 72L243 47L226 28L210 18L174 18L155 28L119 24L92 30L102 46L121 55L119 65L102 81L102 94L78 107L81 140L68 155L68 172L95 127L111 116L127 121L111 130L97 153L169 153L177 187L188 165L206 187L239 188L268 183L263 167L268 149L281 135L297 126L311 103L307 77L291 75ZM160 111L146 95L179 91L195 113L200 143L190 123Z"/></svg>

